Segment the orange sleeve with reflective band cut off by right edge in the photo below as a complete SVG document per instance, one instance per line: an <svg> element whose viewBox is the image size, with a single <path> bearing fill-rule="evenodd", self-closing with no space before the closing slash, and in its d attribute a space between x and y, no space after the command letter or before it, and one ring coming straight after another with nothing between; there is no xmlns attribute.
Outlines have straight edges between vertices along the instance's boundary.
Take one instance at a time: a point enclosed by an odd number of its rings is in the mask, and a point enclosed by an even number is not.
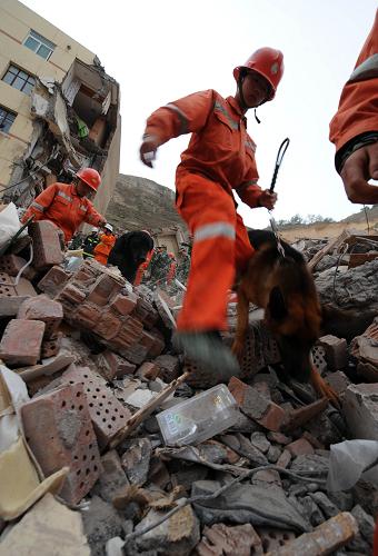
<svg viewBox="0 0 378 556"><path fill-rule="evenodd" d="M339 151L355 137L378 131L378 11L372 29L345 85L329 138Z"/></svg>

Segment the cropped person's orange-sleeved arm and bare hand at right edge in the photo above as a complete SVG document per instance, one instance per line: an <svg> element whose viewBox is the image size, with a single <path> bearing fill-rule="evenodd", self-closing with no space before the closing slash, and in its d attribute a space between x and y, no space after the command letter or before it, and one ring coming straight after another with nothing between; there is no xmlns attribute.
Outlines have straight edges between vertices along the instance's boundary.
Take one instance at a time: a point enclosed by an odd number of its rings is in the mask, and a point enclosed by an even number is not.
<svg viewBox="0 0 378 556"><path fill-rule="evenodd" d="M348 199L378 203L378 11L330 122L335 166Z"/></svg>

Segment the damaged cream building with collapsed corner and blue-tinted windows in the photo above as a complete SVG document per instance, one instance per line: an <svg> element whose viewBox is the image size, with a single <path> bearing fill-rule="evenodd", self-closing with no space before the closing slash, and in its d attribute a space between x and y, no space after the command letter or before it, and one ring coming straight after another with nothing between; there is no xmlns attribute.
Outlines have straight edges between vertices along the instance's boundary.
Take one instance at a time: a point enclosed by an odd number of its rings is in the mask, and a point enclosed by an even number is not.
<svg viewBox="0 0 378 556"><path fill-rule="evenodd" d="M119 85L93 52L16 0L1 2L0 52L2 202L26 207L91 167L105 212L119 172Z"/></svg>

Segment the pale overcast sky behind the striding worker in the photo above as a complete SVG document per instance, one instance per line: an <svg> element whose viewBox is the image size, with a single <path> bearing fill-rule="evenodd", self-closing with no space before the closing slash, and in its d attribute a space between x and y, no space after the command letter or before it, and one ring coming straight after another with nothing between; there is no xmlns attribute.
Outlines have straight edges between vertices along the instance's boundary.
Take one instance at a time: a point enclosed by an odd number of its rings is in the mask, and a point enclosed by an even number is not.
<svg viewBox="0 0 378 556"><path fill-rule="evenodd" d="M175 187L189 136L159 149L151 170L139 161L147 117L203 89L235 93L232 69L265 46L282 50L285 75L272 102L248 115L260 186L269 187L277 149L291 140L276 190L276 219L359 210L334 168L328 126L342 85L369 32L376 0L24 0L29 8L96 52L121 87L122 173ZM263 227L266 209L239 205L246 224Z"/></svg>

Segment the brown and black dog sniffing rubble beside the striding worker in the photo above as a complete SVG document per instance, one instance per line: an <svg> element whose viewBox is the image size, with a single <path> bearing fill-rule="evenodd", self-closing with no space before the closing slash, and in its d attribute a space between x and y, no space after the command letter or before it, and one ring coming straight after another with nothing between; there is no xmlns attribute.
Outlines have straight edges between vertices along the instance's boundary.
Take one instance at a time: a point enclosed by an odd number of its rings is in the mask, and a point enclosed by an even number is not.
<svg viewBox="0 0 378 556"><path fill-rule="evenodd" d="M288 375L311 380L316 390L337 403L337 396L311 365L310 349L320 336L321 306L304 256L281 241L282 257L272 232L250 230L256 249L238 285L238 324L232 351L240 357L248 328L249 304L265 309Z"/></svg>

